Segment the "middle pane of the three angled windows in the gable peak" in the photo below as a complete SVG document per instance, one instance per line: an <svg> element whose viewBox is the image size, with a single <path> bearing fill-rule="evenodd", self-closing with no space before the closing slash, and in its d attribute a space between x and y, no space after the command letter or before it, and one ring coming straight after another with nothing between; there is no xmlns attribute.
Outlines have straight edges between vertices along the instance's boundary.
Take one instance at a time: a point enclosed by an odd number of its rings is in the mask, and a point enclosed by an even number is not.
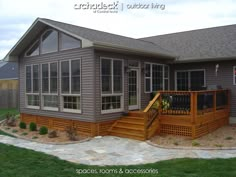
<svg viewBox="0 0 236 177"><path fill-rule="evenodd" d="M58 51L58 32L47 30L41 37L41 53L51 53Z"/></svg>

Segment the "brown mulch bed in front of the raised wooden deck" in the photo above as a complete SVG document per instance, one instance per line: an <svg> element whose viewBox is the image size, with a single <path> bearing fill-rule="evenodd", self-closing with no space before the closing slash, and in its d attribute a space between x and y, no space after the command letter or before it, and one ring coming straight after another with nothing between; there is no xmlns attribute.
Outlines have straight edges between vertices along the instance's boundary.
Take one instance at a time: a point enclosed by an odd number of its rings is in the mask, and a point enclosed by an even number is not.
<svg viewBox="0 0 236 177"><path fill-rule="evenodd" d="M150 141L152 144L167 148L236 148L236 127L224 126L195 140L184 136L158 135Z"/></svg>

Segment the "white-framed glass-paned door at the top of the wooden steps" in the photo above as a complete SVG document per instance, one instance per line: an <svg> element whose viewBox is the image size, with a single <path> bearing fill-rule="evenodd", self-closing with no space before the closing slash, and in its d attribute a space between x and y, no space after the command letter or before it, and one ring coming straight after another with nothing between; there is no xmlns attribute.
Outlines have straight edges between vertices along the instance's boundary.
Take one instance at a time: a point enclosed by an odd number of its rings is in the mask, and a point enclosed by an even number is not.
<svg viewBox="0 0 236 177"><path fill-rule="evenodd" d="M138 69L129 72L129 110L139 109L139 74Z"/></svg>

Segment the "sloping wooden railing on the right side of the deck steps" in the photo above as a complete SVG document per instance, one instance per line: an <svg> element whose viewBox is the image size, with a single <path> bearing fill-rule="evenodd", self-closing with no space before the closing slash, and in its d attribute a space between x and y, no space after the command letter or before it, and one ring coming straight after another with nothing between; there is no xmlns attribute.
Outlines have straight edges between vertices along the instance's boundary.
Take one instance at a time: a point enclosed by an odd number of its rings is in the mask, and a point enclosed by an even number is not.
<svg viewBox="0 0 236 177"><path fill-rule="evenodd" d="M153 121L157 118L157 115L159 114L160 95L160 93L157 93L143 111L146 119L146 129L148 129L152 125Z"/></svg>

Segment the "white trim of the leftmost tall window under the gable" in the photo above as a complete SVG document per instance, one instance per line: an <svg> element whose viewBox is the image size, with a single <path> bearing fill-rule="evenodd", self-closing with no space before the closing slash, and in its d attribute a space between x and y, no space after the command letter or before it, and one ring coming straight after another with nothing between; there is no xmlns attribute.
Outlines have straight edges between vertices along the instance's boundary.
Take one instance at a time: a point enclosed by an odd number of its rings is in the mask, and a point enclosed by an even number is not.
<svg viewBox="0 0 236 177"><path fill-rule="evenodd" d="M37 65L39 67L39 64L31 64L31 65L25 65L25 80L26 80L26 68L28 66L30 66L30 70L31 70L31 91L27 92L27 82L25 81L25 107L29 108L29 109L39 109L40 108L40 103L39 106L32 106L32 105L28 105L28 95L38 95L39 96L39 92L38 93L34 93L33 92L33 66ZM39 79L40 79L40 68L38 68L38 74L39 74ZM40 86L39 86L40 87Z"/></svg>

